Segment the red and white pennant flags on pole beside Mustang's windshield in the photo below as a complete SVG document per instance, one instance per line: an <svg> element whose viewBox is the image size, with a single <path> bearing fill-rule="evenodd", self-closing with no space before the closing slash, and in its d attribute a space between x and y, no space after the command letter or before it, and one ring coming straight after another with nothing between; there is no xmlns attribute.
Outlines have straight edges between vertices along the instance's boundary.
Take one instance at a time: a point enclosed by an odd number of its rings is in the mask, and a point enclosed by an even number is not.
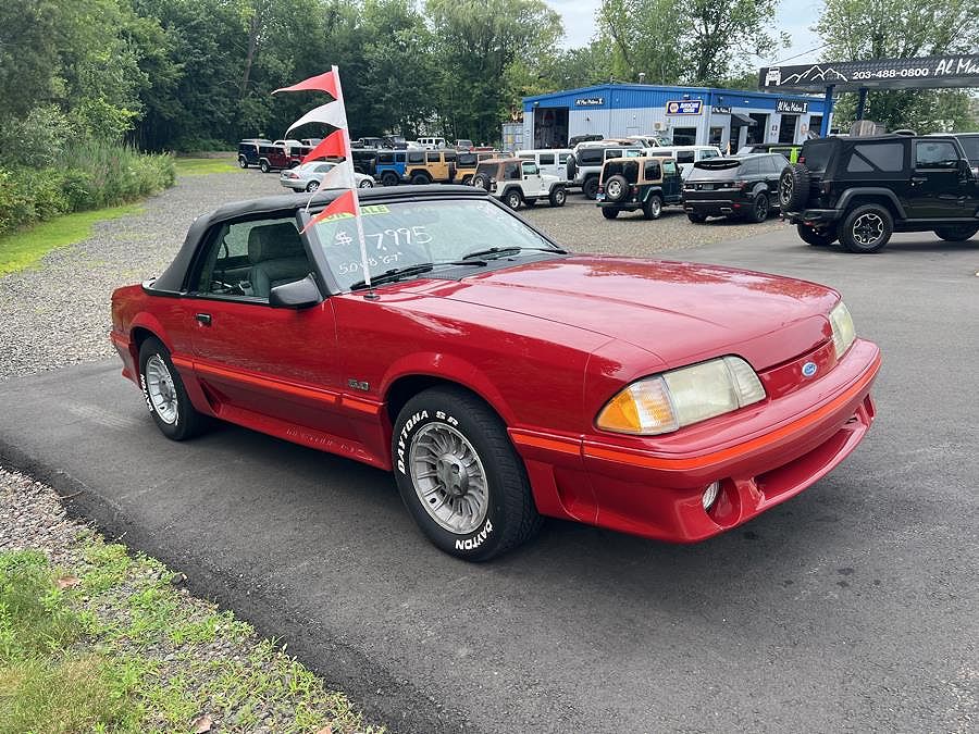
<svg viewBox="0 0 979 734"><path fill-rule="evenodd" d="M371 273L368 269L367 246L363 237L363 223L360 220L360 199L357 196L357 184L354 176L354 154L350 150L350 133L347 129L347 111L344 107L344 89L339 80L339 70L333 66L329 72L311 76L308 79L298 82L289 87L276 89L272 94L280 91L325 91L334 98L333 102L321 104L307 112L296 122L289 125L286 136L296 127L308 123L321 123L336 127L337 129L323 138L309 153L302 158L302 162L317 160L320 158L344 158L343 163L338 163L323 176L321 188L339 188L345 189L343 194L331 201L326 208L315 214L302 232L306 232L317 222L335 214L351 214L357 223L357 237L360 240L360 261L363 266L363 281L370 287Z"/></svg>

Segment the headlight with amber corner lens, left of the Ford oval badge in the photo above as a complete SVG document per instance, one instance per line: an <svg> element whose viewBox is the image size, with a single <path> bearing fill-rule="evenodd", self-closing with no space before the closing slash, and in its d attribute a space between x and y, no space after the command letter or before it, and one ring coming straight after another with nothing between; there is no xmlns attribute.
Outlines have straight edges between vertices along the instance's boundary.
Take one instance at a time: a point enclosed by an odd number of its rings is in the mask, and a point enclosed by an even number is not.
<svg viewBox="0 0 979 734"><path fill-rule="evenodd" d="M605 431L653 436L730 413L765 399L765 388L740 357L721 357L644 377L627 386L598 413Z"/></svg>

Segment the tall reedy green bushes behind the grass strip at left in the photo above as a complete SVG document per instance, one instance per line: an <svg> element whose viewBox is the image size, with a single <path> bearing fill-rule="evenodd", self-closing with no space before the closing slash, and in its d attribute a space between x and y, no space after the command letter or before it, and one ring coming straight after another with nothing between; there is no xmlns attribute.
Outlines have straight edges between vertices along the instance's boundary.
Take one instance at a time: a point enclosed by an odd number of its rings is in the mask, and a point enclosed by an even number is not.
<svg viewBox="0 0 979 734"><path fill-rule="evenodd" d="M67 212L134 201L175 179L170 154L89 140L60 153L53 166L0 169L0 234Z"/></svg>

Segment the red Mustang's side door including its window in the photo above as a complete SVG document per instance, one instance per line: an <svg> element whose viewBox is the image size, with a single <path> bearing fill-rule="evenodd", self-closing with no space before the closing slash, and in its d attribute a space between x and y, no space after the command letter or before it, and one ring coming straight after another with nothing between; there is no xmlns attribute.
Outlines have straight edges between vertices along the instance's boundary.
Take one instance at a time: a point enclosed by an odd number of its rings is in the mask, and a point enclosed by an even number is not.
<svg viewBox="0 0 979 734"><path fill-rule="evenodd" d="M294 216L216 225L191 274L194 372L218 414L258 428L348 436L329 300L273 308L269 289L313 272ZM323 440L327 440L326 437Z"/></svg>

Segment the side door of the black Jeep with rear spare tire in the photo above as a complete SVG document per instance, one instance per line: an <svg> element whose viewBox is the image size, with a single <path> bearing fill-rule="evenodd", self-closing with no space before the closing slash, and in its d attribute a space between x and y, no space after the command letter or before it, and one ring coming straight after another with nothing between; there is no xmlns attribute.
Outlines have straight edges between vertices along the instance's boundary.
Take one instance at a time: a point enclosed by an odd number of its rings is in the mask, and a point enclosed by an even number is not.
<svg viewBox="0 0 979 734"><path fill-rule="evenodd" d="M952 140L914 141L908 219L966 216L968 182L959 170L958 148Z"/></svg>

